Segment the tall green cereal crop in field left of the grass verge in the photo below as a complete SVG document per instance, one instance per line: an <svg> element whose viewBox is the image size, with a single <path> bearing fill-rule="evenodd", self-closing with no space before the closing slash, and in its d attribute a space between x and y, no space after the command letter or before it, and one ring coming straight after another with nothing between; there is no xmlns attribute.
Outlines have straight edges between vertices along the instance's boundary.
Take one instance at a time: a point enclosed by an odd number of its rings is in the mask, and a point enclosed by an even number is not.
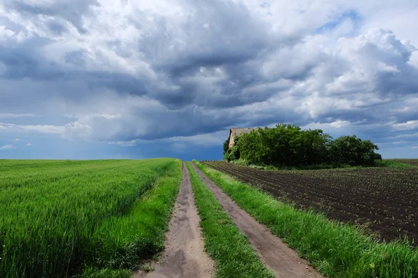
<svg viewBox="0 0 418 278"><path fill-rule="evenodd" d="M0 277L63 277L86 263L111 265L98 252L107 238L98 231L173 171L180 161L169 158L0 161ZM116 227L107 228L111 237Z"/></svg>

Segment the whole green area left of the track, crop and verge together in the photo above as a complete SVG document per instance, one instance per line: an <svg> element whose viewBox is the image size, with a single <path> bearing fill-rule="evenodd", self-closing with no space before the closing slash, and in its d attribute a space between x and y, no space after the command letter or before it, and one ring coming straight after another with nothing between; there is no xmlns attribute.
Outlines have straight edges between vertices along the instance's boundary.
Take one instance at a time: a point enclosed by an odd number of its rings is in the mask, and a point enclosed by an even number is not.
<svg viewBox="0 0 418 278"><path fill-rule="evenodd" d="M180 169L170 158L0 161L0 277L130 267L157 252Z"/></svg>

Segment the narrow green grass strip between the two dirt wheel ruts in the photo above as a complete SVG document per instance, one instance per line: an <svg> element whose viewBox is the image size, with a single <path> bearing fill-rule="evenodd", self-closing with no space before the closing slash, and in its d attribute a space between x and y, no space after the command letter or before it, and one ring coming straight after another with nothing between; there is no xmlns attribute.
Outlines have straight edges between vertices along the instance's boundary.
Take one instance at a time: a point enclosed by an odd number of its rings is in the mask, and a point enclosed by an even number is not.
<svg viewBox="0 0 418 278"><path fill-rule="evenodd" d="M274 277L189 163L187 168L201 217L205 249L215 261L216 276Z"/></svg>

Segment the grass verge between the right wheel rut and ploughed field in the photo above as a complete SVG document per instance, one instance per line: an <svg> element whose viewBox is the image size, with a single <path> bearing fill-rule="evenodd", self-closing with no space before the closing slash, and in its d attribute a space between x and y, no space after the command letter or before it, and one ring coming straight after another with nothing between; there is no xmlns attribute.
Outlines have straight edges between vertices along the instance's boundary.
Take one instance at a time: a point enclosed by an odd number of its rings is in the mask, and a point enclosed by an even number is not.
<svg viewBox="0 0 418 278"><path fill-rule="evenodd" d="M378 243L357 227L328 220L313 211L297 210L257 188L194 163L241 208L326 277L418 277L418 250L407 242Z"/></svg>

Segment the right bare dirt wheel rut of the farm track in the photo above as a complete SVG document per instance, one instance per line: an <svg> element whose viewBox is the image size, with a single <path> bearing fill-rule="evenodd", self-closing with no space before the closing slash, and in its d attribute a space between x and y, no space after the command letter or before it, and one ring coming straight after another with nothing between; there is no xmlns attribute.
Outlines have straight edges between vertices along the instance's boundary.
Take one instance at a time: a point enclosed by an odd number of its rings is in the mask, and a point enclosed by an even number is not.
<svg viewBox="0 0 418 278"><path fill-rule="evenodd" d="M193 164L192 164L193 165ZM214 193L219 204L229 214L240 231L248 237L249 242L258 253L265 265L272 270L276 277L302 278L322 277L308 262L300 259L297 253L284 244L279 238L270 233L262 224L258 223L248 213L242 210L233 200L215 186L201 170L193 165L194 170Z"/></svg>

